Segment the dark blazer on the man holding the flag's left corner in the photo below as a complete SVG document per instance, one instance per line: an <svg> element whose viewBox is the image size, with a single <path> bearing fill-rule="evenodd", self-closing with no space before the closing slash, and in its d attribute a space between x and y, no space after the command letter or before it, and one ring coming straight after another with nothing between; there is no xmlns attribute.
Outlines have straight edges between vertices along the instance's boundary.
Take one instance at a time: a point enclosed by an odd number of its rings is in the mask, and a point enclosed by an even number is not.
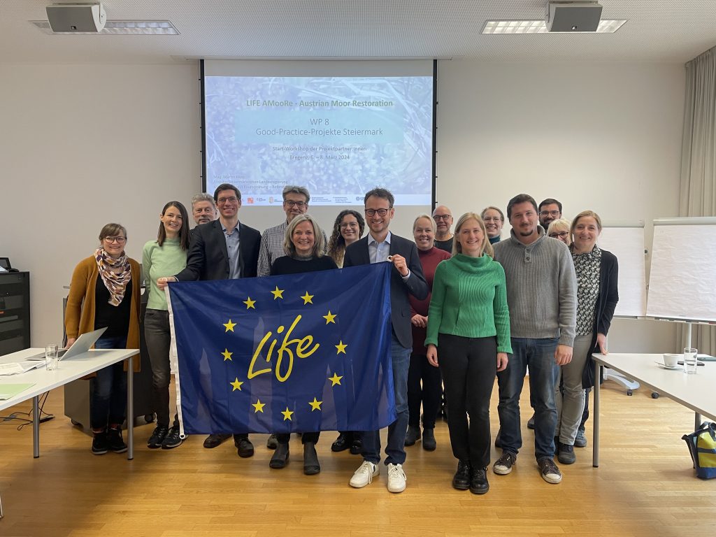
<svg viewBox="0 0 716 537"><path fill-rule="evenodd" d="M238 223L240 278L256 276L261 233ZM215 220L196 226L191 233L186 268L176 275L179 281L226 280L229 276L228 251L221 222Z"/></svg>

